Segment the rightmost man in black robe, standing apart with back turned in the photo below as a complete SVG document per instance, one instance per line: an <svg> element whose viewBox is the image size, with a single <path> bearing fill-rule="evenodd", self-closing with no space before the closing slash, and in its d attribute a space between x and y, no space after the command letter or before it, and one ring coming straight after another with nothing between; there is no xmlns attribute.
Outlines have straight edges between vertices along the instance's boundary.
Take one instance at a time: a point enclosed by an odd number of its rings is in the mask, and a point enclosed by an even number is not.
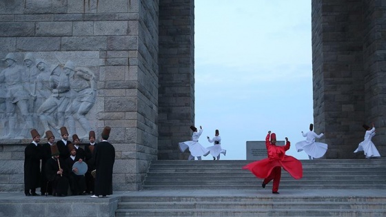
<svg viewBox="0 0 386 217"><path fill-rule="evenodd" d="M94 195L91 198L112 194L112 168L115 161L115 149L108 142L110 127L102 132L102 141L94 149L94 165L96 169Z"/></svg>

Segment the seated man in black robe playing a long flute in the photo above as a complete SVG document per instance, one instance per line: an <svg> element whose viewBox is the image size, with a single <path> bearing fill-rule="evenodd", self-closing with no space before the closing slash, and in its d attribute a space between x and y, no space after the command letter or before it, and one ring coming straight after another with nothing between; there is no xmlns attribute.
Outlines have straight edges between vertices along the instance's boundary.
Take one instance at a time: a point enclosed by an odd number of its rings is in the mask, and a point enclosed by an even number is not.
<svg viewBox="0 0 386 217"><path fill-rule="evenodd" d="M59 157L57 144L51 145L52 157L45 164L45 174L52 183L53 196L67 196L68 194L68 167Z"/></svg>

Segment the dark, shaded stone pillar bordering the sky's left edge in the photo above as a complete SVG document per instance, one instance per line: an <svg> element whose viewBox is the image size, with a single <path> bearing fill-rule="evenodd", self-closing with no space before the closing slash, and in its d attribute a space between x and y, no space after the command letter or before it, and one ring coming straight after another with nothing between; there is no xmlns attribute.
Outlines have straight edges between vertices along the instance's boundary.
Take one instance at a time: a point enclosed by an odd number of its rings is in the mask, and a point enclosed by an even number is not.
<svg viewBox="0 0 386 217"><path fill-rule="evenodd" d="M187 159L194 125L194 1L160 1L159 160Z"/></svg>

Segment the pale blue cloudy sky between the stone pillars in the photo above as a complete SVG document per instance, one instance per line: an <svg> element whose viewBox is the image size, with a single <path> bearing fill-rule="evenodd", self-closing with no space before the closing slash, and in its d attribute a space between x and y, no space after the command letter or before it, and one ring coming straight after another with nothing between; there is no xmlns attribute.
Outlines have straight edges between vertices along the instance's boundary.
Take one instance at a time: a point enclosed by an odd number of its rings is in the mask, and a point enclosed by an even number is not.
<svg viewBox="0 0 386 217"><path fill-rule="evenodd" d="M288 137L287 155L313 123L311 0L195 0L195 125L221 160L245 160L247 141ZM316 132L320 134L321 132ZM212 160L212 156L203 157Z"/></svg>

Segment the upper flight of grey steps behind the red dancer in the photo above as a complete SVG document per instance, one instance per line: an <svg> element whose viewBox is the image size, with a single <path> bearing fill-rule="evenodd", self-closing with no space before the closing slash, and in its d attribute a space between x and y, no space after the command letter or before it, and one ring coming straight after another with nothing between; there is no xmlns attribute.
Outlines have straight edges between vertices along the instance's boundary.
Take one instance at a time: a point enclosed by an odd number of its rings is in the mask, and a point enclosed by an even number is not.
<svg viewBox="0 0 386 217"><path fill-rule="evenodd" d="M256 189L262 179L241 169L252 161L155 161L143 189ZM386 189L386 159L302 161L303 178L283 171L280 189ZM270 187L272 183L268 184Z"/></svg>

